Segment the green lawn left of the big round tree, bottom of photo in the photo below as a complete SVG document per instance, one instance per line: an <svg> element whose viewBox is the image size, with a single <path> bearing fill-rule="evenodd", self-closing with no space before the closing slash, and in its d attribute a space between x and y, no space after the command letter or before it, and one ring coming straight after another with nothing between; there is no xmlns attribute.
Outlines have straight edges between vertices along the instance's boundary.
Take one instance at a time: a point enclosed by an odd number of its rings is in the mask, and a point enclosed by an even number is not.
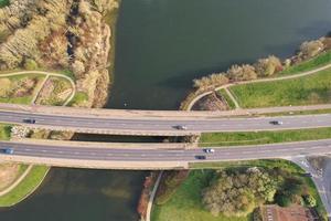
<svg viewBox="0 0 331 221"><path fill-rule="evenodd" d="M189 178L162 206L153 206L152 221L250 221L247 218L213 217L203 209L201 190L207 185L212 171L191 171Z"/></svg>

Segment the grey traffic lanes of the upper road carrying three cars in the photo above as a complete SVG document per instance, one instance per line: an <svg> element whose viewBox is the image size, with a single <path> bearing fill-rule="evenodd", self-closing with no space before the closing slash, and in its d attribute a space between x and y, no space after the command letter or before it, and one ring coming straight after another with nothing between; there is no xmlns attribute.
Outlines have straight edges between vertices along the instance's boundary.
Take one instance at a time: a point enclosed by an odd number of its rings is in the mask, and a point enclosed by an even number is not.
<svg viewBox="0 0 331 221"><path fill-rule="evenodd" d="M259 130L259 129L286 129L299 127L329 127L331 115L305 115L284 117L257 117L257 118L227 118L227 119L201 119L201 120L158 120L158 119L98 119L67 116L29 115L14 113L1 113L0 122L22 124L23 119L36 120L31 126L62 126L74 128L96 129L131 129L131 130L178 130L175 125L185 125L186 131L217 131L217 130ZM282 125L273 125L270 122L281 120Z"/></svg>

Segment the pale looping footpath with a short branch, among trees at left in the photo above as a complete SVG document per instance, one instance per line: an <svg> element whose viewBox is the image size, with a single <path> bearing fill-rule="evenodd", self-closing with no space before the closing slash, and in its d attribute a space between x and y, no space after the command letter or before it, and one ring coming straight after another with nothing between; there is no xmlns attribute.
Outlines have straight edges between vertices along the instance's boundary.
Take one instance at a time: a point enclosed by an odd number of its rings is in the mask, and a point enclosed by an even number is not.
<svg viewBox="0 0 331 221"><path fill-rule="evenodd" d="M23 75L23 74L43 74L43 75L45 75L45 78L43 80L41 86L38 88L38 92L35 93L34 97L32 98L32 104L34 104L34 102L36 101L40 92L44 87L44 84L46 83L46 81L51 76L56 76L56 77L65 78L72 85L73 92L72 92L71 96L66 99L66 102L63 104L63 106L66 106L74 98L74 96L76 94L75 82L71 77L68 77L68 76L66 76L64 74L58 74L58 73L53 73L53 72L44 72L44 71L20 71L20 72L12 72L12 73L8 73L8 74L0 74L0 77L17 76L17 75Z"/></svg>

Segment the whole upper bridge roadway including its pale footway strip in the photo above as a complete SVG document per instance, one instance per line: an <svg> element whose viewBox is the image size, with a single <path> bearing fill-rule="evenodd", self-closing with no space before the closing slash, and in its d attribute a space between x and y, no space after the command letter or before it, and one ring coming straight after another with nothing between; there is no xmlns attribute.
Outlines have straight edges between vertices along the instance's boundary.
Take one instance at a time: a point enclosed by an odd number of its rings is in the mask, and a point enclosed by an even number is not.
<svg viewBox="0 0 331 221"><path fill-rule="evenodd" d="M327 105L328 106L328 105ZM324 107L324 106L323 106ZM310 107L264 108L270 112L309 109ZM256 109L254 109L256 112ZM45 107L0 105L0 122L25 125L30 128L68 130L89 134L185 136L212 131L257 131L330 127L331 114L293 115L282 117L241 117L252 109L227 112L157 112L157 110L105 110L72 107ZM24 119L35 119L25 124ZM282 125L270 122L281 120ZM188 129L178 129L185 125Z"/></svg>

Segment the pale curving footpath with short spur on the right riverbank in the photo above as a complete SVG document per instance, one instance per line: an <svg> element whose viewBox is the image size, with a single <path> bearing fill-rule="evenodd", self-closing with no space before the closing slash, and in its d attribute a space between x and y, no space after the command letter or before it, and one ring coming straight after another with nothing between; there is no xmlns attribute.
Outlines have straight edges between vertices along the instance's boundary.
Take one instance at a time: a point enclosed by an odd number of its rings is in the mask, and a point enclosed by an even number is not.
<svg viewBox="0 0 331 221"><path fill-rule="evenodd" d="M205 92L205 93L202 93L200 95L197 95L196 97L194 97L190 104L188 105L188 109L192 109L192 107L194 106L194 104L201 99L202 97L213 93L214 91L217 92L220 90L225 90L226 93L228 93L227 88L231 87L231 86L234 86L234 85L243 85L243 84L253 84L253 83L260 83L260 82L276 82L276 81L282 81L282 80L292 80L292 78L298 78L298 77L302 77L302 76L308 76L308 75L311 75L311 74L316 74L320 71L324 71L327 69L330 69L331 67L331 63L330 64L327 64L324 66L321 66L321 67L318 67L318 69L314 69L314 70L311 70L311 71L307 71L307 72L302 72L300 74L292 74L292 75L286 75L286 76L280 76L280 77L271 77L271 78L258 78L258 80L252 80L252 81L246 81L246 82L235 82L235 83L229 83L229 84L225 84L225 85L222 85L222 86L218 86L216 88L214 88L213 91L209 91L209 92ZM233 95L231 95L231 93L228 94L231 99L234 102L234 104L237 104L237 101L235 99L235 97ZM236 105L236 107L237 107Z"/></svg>

